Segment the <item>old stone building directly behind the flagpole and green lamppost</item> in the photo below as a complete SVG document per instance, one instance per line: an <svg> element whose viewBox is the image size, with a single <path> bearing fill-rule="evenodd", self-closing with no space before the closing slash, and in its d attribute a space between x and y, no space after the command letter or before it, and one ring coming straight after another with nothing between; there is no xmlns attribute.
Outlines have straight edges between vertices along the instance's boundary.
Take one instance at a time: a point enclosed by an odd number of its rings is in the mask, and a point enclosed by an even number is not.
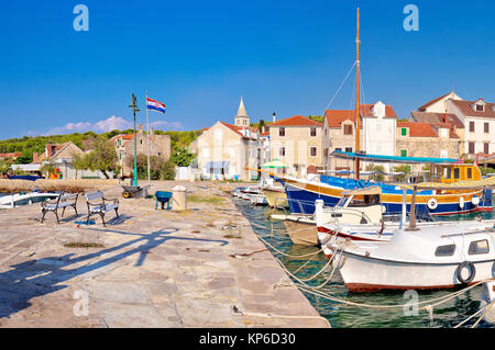
<svg viewBox="0 0 495 350"><path fill-rule="evenodd" d="M110 140L116 147L121 176L131 176L133 167L129 167L129 159L134 157L134 134L121 134L113 136ZM147 137L143 132L143 125L139 125L136 132L136 154L147 155ZM170 158L170 136L155 135L150 129L150 156L157 156L163 160Z"/></svg>

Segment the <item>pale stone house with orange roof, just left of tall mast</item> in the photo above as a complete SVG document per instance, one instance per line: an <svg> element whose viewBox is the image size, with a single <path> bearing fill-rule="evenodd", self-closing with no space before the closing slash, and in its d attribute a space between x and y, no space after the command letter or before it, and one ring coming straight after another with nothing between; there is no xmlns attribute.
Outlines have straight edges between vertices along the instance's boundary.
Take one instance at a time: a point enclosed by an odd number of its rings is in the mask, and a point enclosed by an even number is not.
<svg viewBox="0 0 495 350"><path fill-rule="evenodd" d="M270 125L272 159L280 159L287 173L305 177L323 169L322 124L295 115Z"/></svg>

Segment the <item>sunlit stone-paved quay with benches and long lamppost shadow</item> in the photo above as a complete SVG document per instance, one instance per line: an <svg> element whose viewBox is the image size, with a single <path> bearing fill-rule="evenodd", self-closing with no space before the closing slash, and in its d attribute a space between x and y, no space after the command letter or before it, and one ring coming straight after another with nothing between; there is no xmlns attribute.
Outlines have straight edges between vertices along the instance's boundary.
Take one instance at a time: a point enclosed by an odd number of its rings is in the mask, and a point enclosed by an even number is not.
<svg viewBox="0 0 495 350"><path fill-rule="evenodd" d="M175 184L154 182L151 193ZM105 193L120 197L122 215L107 227L97 216L96 225L77 227L82 216L68 217L72 208L61 225L51 213L41 224L40 204L0 211L0 327L327 326L296 287L273 287L286 275L268 251L230 257L265 247L222 191L226 184L182 184L223 201L155 211L153 200L123 200L121 188L109 185ZM78 211L87 212L82 197ZM224 237L222 227L232 222L243 226L241 239ZM234 305L275 317L234 315Z"/></svg>

